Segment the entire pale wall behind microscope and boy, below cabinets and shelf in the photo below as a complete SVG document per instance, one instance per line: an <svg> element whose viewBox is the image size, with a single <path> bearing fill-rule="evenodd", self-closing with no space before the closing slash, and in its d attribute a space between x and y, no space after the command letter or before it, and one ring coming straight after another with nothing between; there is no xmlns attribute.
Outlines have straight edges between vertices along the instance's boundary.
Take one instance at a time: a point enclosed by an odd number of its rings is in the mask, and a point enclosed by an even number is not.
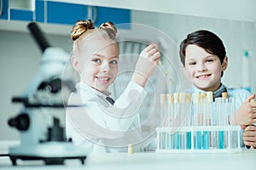
<svg viewBox="0 0 256 170"><path fill-rule="evenodd" d="M217 20L178 14L156 14L133 11L131 20L148 26L154 26L177 42L177 45L186 35L195 30L208 29L214 31L224 41L229 56L229 67L224 73L223 82L229 87L241 87L241 57L243 51L252 51L250 66L252 75L256 73L256 24L235 20ZM52 46L63 48L70 52L71 41L67 36L47 35ZM0 111L0 140L19 139L19 133L7 124L9 117L16 116L20 111L19 104L12 104L11 98L22 94L27 84L38 71L41 56L40 48L30 34L26 32L0 31L0 75L1 75L1 111ZM173 60L179 65L179 58ZM256 90L256 81L252 81L253 92Z"/></svg>

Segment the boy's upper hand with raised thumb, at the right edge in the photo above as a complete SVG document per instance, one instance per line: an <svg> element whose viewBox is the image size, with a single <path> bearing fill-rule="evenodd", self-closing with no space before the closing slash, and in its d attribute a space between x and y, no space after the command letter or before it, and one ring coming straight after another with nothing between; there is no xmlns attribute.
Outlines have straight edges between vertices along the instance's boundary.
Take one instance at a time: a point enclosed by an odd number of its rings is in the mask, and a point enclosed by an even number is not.
<svg viewBox="0 0 256 170"><path fill-rule="evenodd" d="M236 112L236 124L251 125L256 123L256 102L250 102L255 94L251 95Z"/></svg>

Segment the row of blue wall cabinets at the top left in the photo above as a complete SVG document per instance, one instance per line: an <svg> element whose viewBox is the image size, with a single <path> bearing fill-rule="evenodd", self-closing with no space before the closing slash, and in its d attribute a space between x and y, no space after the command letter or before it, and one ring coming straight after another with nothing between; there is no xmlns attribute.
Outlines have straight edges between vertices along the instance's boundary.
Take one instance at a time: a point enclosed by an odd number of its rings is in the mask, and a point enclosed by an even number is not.
<svg viewBox="0 0 256 170"><path fill-rule="evenodd" d="M73 25L77 20L94 19L95 25L112 21L114 24L130 23L131 11L122 8L88 7L84 4L59 3L32 0L34 8L9 8L9 0L3 0L3 20L35 20L43 23ZM90 11L91 13L88 13ZM88 16L90 14L90 16Z"/></svg>

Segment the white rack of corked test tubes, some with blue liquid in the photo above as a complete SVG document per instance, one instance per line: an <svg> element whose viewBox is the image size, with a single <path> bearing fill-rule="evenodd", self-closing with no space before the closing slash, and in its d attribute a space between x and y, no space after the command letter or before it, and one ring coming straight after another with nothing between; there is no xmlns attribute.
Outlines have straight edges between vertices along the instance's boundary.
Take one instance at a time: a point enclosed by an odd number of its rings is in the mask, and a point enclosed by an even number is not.
<svg viewBox="0 0 256 170"><path fill-rule="evenodd" d="M240 152L241 127L232 126L234 99L212 93L160 96L162 124L156 128L156 152Z"/></svg>

